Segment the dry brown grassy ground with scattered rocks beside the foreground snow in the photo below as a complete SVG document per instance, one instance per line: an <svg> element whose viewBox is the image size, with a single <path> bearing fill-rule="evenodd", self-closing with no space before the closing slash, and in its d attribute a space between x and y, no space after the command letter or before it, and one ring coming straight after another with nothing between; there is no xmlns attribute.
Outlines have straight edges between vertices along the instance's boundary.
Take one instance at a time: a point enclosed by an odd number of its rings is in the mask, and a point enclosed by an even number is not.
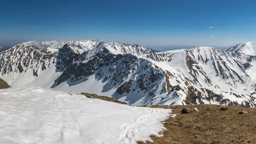
<svg viewBox="0 0 256 144"><path fill-rule="evenodd" d="M221 105L173 106L172 114L180 113L182 108L190 108L191 112L167 119L164 123L167 130L162 132L164 136L152 136L154 142L148 143L256 144L256 108L227 106L228 110L220 111L222 107ZM194 108L198 108L199 112L193 111ZM248 114L239 115L239 111L247 111Z"/></svg>

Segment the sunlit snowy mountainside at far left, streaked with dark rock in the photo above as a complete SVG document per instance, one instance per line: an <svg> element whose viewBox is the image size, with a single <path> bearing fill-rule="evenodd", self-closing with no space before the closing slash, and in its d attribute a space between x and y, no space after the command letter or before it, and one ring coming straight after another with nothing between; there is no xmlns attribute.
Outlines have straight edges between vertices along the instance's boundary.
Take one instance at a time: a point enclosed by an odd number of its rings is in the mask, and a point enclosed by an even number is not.
<svg viewBox="0 0 256 144"><path fill-rule="evenodd" d="M40 85L50 81L56 72L56 53L44 54L26 44L0 52L0 74L10 85L26 85L39 82Z"/></svg>

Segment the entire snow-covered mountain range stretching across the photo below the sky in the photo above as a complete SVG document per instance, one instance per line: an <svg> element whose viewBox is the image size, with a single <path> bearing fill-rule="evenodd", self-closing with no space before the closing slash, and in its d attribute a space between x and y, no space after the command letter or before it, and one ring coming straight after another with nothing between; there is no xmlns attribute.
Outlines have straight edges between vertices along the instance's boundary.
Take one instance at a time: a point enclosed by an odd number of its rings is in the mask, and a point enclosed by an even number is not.
<svg viewBox="0 0 256 144"><path fill-rule="evenodd" d="M131 105L256 106L256 46L167 52L98 40L30 41L0 52L10 85L93 93Z"/></svg>

